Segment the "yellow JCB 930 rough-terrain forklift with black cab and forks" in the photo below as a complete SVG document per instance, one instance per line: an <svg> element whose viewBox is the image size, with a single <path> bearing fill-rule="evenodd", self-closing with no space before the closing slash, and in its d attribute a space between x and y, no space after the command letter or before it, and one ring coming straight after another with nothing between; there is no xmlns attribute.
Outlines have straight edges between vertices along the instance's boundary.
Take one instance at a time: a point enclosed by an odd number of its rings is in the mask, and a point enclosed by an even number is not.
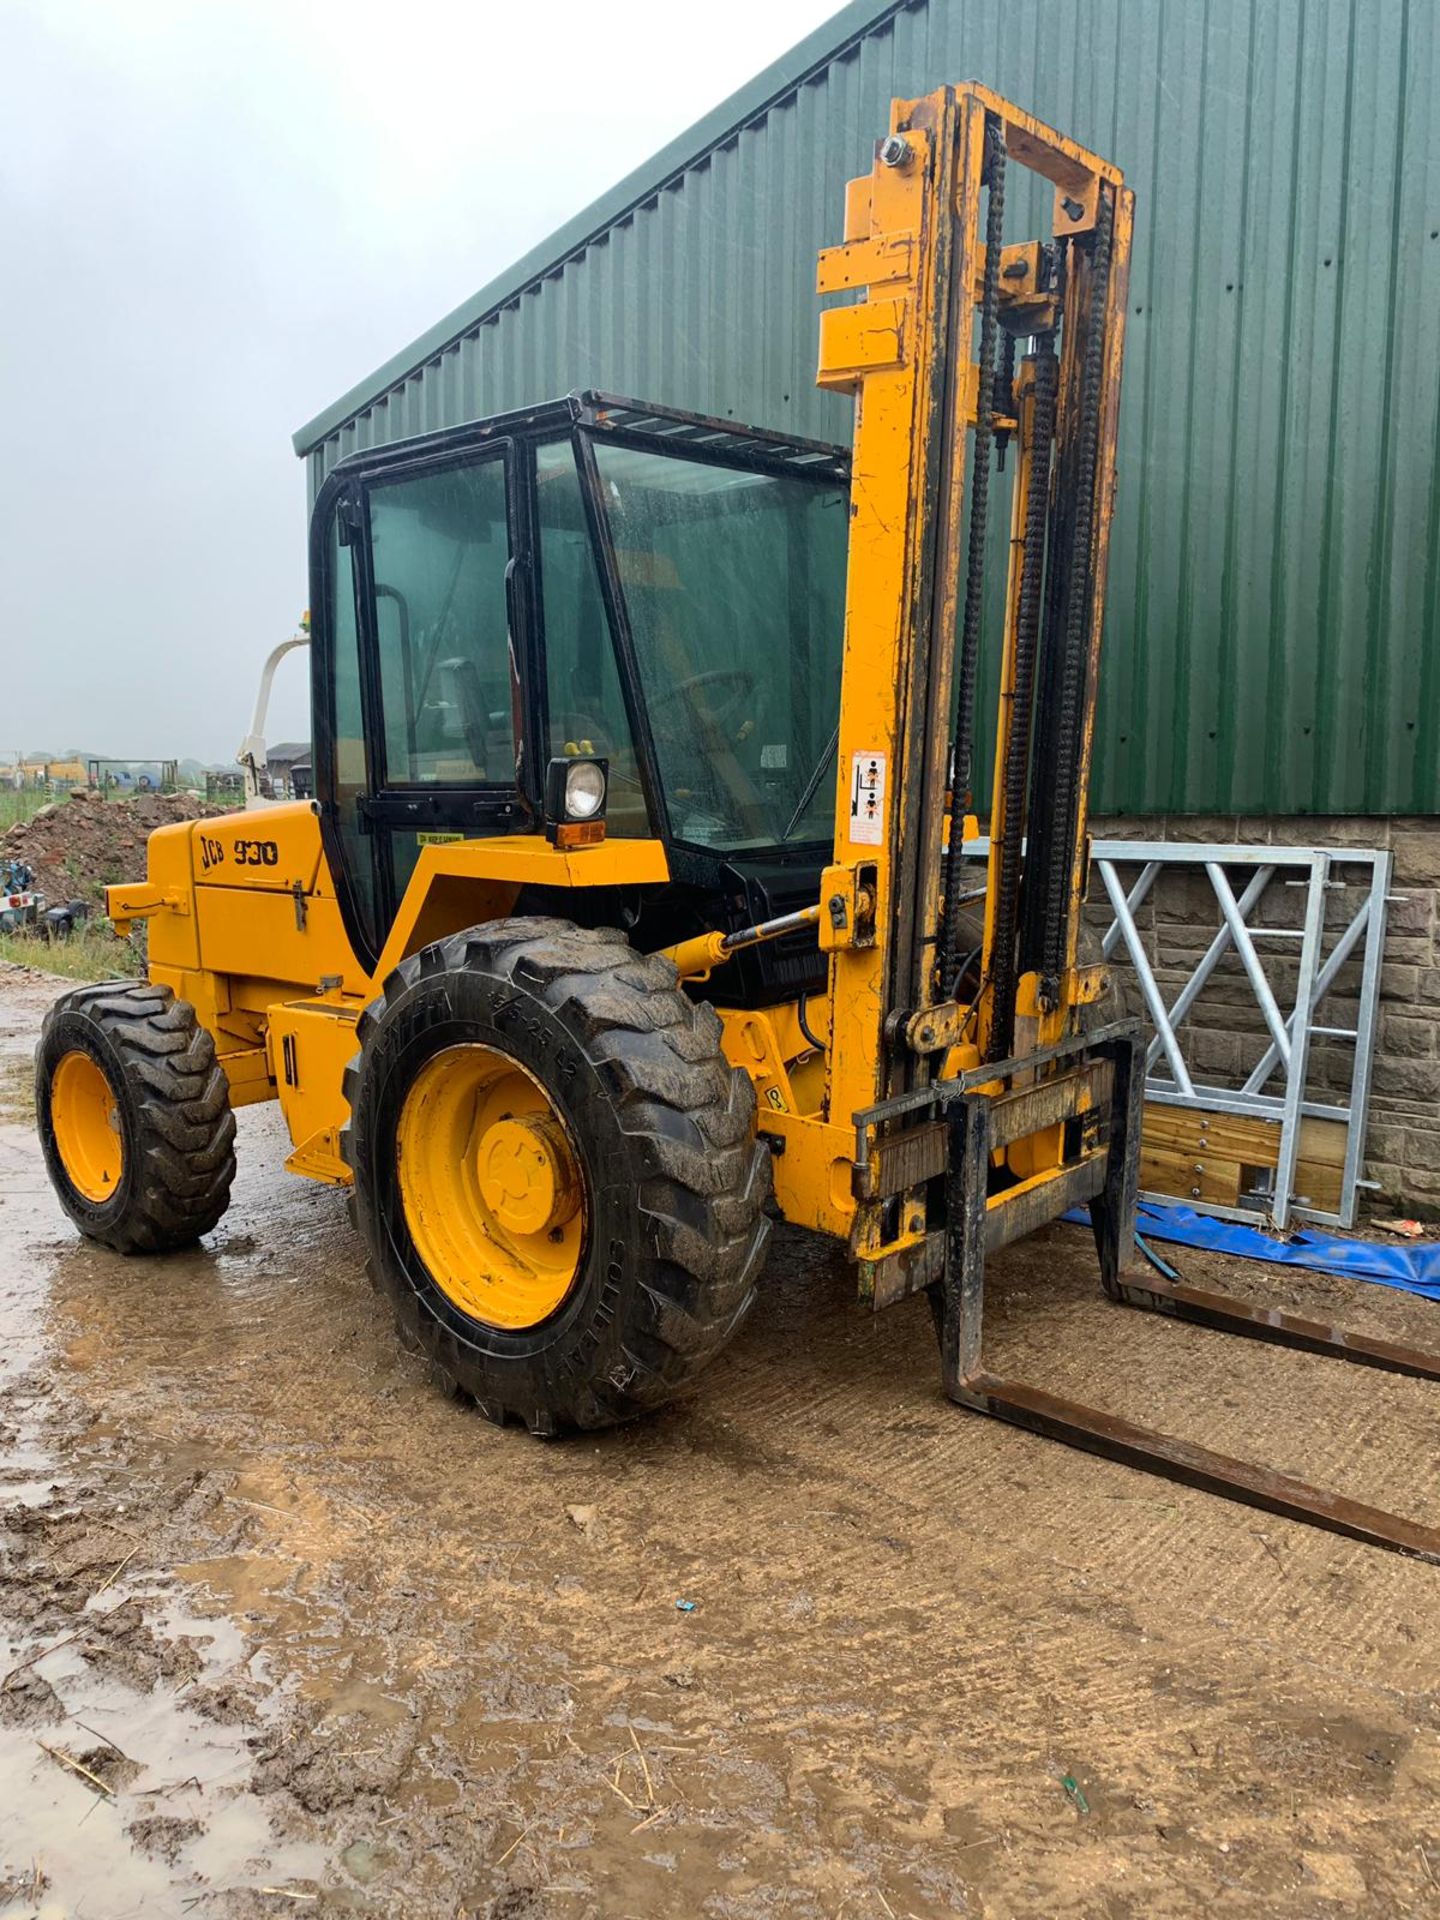
<svg viewBox="0 0 1440 1920"><path fill-rule="evenodd" d="M1041 238L1006 242L1031 177ZM232 1110L348 1187L401 1338L536 1434L657 1407L768 1202L925 1290L952 1400L1400 1551L1440 1534L991 1375L989 1254L1089 1208L1114 1300L1436 1377L1129 1273L1144 1044L1081 947L1133 196L983 86L893 104L820 257L841 449L597 394L344 461L313 803L163 828L150 977L65 995L50 1175L207 1233ZM977 858L995 474L1010 570ZM958 639L956 639L958 636Z"/></svg>

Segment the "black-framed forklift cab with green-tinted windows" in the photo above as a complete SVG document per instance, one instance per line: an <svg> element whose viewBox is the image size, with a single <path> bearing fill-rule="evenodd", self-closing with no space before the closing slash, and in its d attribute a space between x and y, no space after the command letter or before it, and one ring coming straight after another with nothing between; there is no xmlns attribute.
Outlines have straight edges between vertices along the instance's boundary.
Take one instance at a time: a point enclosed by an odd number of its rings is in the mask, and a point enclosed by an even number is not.
<svg viewBox="0 0 1440 1920"><path fill-rule="evenodd" d="M639 945L812 900L833 843L849 461L597 394L344 461L311 522L315 791L374 964L434 839L536 831L555 760L662 897L566 895ZM722 902L716 908L716 902ZM716 972L824 983L812 929Z"/></svg>

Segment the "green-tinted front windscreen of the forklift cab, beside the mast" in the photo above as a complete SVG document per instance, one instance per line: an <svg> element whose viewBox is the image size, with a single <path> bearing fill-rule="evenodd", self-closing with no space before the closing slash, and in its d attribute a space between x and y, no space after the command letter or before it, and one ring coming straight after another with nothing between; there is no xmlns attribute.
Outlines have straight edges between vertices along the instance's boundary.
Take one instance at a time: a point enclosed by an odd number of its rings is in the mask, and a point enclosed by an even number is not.
<svg viewBox="0 0 1440 1920"><path fill-rule="evenodd" d="M845 490L603 440L595 459L672 831L829 839Z"/></svg>

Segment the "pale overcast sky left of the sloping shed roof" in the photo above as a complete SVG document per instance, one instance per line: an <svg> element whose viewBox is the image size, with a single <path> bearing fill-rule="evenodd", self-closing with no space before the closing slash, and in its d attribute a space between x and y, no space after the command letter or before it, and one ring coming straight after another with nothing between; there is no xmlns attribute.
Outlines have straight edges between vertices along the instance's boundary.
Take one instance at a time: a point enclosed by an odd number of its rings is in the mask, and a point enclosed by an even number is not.
<svg viewBox="0 0 1440 1920"><path fill-rule="evenodd" d="M228 760L290 434L835 6L0 0L0 756Z"/></svg>

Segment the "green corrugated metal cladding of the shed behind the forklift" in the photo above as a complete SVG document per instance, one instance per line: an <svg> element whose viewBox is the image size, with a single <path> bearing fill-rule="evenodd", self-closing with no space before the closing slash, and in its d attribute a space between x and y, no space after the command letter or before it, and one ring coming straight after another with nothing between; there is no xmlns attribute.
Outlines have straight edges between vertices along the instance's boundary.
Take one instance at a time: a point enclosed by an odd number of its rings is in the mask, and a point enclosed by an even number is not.
<svg viewBox="0 0 1440 1920"><path fill-rule="evenodd" d="M856 0L301 428L311 484L576 386L849 440L814 255L970 77L1139 194L1100 810L1440 810L1436 0Z"/></svg>

